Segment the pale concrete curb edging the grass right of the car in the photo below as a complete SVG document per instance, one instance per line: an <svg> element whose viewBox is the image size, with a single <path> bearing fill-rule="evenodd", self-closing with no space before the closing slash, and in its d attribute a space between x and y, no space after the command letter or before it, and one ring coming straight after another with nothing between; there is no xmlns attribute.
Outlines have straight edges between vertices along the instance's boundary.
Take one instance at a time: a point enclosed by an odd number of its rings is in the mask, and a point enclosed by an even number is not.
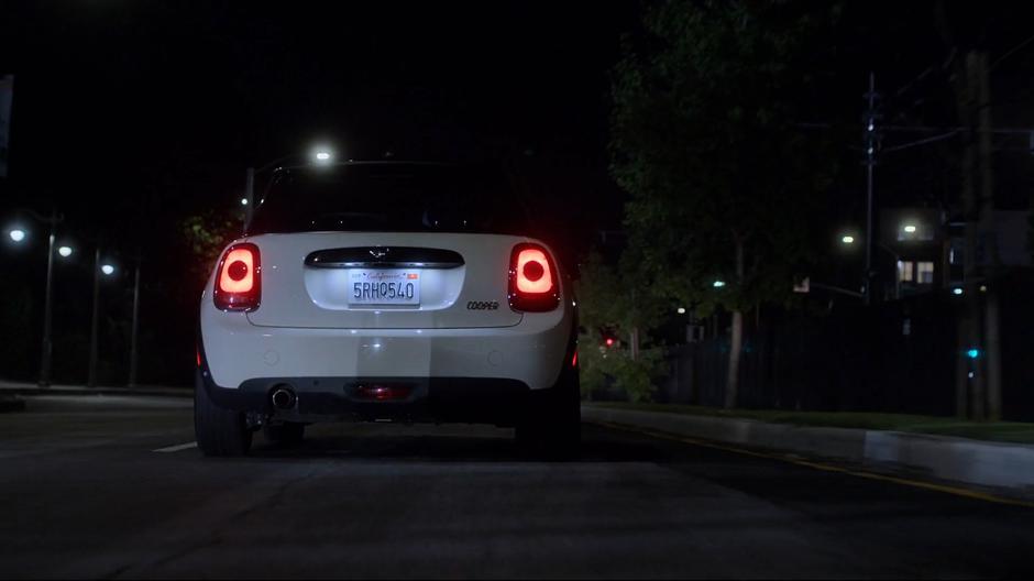
<svg viewBox="0 0 1034 581"><path fill-rule="evenodd" d="M582 419L785 452L834 458L980 486L1034 491L1034 446L754 419L582 406Z"/></svg>

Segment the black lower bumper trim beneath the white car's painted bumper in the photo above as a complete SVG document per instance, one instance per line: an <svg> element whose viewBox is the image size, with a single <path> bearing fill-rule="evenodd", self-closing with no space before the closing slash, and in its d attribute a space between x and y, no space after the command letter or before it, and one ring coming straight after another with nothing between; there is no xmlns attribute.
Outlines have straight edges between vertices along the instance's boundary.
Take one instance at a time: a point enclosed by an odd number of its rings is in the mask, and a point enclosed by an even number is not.
<svg viewBox="0 0 1034 581"><path fill-rule="evenodd" d="M363 397L361 386L377 384L405 386L408 396L391 402ZM288 410L275 409L271 401L274 387L290 388L297 396L297 404ZM204 366L198 373L196 388L206 390L211 401L224 409L286 420L356 419L509 426L525 417L534 397L527 385L514 380L469 377L260 377L249 380L238 388L227 388L217 385Z"/></svg>

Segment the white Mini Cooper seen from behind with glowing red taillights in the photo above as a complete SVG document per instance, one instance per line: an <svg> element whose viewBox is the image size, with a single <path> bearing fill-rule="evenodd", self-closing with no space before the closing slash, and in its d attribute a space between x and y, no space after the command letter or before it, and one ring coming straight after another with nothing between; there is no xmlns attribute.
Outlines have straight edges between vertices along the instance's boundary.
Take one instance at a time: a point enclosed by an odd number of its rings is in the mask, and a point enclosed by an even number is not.
<svg viewBox="0 0 1034 581"><path fill-rule="evenodd" d="M576 446L570 279L506 196L462 166L278 172L201 297L201 450L342 419L490 423Z"/></svg>

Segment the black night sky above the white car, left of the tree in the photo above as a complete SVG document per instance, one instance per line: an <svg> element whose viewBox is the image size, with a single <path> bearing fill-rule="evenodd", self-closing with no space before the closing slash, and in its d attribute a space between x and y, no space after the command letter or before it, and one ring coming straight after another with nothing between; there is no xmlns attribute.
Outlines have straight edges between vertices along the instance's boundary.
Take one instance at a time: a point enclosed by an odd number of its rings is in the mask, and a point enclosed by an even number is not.
<svg viewBox="0 0 1034 581"><path fill-rule="evenodd" d="M150 188L232 201L244 167L314 142L353 158L544 152L598 173L607 70L638 6L588 7L9 6L12 182L95 221L97 202L135 212Z"/></svg>

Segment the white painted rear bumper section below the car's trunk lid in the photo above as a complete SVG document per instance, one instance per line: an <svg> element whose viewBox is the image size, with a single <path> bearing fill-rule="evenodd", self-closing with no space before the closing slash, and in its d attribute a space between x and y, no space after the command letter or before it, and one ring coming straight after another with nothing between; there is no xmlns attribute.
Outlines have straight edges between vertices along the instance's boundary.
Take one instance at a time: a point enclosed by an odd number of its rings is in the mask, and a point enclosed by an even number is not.
<svg viewBox="0 0 1034 581"><path fill-rule="evenodd" d="M200 322L211 379L231 390L263 377L510 380L543 390L570 362L574 339L570 305L504 328L323 329L257 327L209 299Z"/></svg>

